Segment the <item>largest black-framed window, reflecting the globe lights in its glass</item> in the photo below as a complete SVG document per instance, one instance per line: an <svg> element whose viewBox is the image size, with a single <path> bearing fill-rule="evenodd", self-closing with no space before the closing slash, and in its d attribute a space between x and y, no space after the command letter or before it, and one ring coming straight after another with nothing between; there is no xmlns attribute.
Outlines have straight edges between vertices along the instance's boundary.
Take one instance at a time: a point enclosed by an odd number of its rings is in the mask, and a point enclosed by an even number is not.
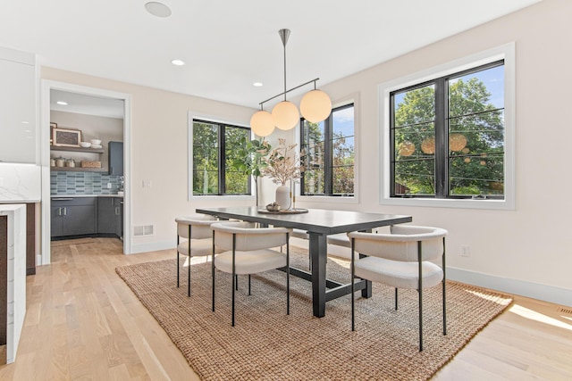
<svg viewBox="0 0 572 381"><path fill-rule="evenodd" d="M391 197L504 199L504 61L390 93Z"/></svg>

